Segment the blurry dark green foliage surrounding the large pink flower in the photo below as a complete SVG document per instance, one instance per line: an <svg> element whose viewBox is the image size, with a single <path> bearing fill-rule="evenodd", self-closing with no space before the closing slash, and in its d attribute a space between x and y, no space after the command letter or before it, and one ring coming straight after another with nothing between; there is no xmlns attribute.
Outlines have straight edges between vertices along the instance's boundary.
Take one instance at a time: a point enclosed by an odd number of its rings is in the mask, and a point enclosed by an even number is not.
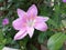
<svg viewBox="0 0 66 50"><path fill-rule="evenodd" d="M16 9L26 11L32 4L36 4L40 16L50 17L48 30L45 32L35 30L32 39L26 36L20 41L14 41L16 31L12 28L12 21L18 18ZM4 18L9 18L10 23L2 27ZM0 50L6 46L21 50L41 50L40 46L45 40L48 50L64 50L65 39L66 3L62 0L0 0Z"/></svg>

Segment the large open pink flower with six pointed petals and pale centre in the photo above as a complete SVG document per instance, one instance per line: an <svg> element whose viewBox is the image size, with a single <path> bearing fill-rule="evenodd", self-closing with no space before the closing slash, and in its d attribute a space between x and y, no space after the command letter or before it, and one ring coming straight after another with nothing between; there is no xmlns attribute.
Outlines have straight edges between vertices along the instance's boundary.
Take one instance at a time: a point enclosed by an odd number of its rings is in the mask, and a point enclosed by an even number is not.
<svg viewBox="0 0 66 50"><path fill-rule="evenodd" d="M21 9L18 9L19 18L13 21L13 28L19 30L19 32L14 36L14 40L23 39L26 34L32 38L34 29L46 31L47 24L45 23L48 18L37 16L37 8L35 4L29 8L25 12Z"/></svg>

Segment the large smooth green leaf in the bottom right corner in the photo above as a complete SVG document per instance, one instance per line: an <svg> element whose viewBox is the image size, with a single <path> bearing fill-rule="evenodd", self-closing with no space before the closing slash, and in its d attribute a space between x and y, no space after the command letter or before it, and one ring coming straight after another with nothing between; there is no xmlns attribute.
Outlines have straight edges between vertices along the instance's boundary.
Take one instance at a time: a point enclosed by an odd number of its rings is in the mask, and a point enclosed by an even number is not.
<svg viewBox="0 0 66 50"><path fill-rule="evenodd" d="M62 48L64 41L66 39L66 36L62 32L56 33L52 36L47 42L47 48L50 50L59 50Z"/></svg>

